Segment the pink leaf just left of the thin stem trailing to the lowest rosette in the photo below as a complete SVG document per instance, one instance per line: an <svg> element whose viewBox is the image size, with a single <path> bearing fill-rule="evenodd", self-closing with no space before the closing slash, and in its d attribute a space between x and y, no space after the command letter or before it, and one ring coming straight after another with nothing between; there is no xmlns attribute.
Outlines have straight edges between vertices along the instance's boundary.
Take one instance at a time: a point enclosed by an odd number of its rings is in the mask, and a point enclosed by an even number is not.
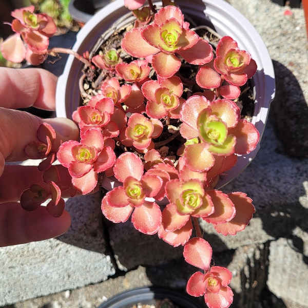
<svg viewBox="0 0 308 308"><path fill-rule="evenodd" d="M172 245L174 247L178 247L180 245L185 245L187 241L189 240L192 233L192 222L191 219L187 221L187 223L178 230L175 230L173 232L166 231L164 229L163 224L161 224L159 230L158 230L158 237L168 243L169 245Z"/></svg>

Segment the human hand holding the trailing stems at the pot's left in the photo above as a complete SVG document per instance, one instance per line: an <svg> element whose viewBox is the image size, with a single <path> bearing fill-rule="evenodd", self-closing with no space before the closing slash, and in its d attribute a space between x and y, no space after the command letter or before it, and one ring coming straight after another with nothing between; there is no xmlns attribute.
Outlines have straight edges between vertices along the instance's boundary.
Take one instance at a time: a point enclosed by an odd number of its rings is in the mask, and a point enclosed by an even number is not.
<svg viewBox="0 0 308 308"><path fill-rule="evenodd" d="M36 166L5 165L23 161L25 146L37 141L36 131L49 123L62 141L79 137L78 127L68 119L41 119L16 108L34 106L55 108L56 76L37 69L0 68L0 246L40 241L59 236L70 226L70 215L64 210L59 218L45 207L24 210L18 201L32 183L42 183L42 172Z"/></svg>

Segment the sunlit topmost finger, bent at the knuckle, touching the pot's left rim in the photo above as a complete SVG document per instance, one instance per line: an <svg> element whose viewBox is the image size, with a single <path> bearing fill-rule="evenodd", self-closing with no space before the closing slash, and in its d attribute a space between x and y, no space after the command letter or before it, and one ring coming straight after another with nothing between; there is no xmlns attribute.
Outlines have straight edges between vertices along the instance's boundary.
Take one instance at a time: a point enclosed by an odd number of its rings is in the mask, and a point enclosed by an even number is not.
<svg viewBox="0 0 308 308"><path fill-rule="evenodd" d="M0 106L44 110L55 109L57 77L39 68L0 68Z"/></svg>

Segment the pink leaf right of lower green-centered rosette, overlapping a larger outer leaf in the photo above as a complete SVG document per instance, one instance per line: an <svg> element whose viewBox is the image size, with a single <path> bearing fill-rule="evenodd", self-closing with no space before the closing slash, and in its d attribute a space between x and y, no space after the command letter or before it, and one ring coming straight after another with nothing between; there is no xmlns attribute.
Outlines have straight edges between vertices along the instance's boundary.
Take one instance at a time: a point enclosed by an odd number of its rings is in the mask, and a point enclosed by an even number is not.
<svg viewBox="0 0 308 308"><path fill-rule="evenodd" d="M206 193L209 194L214 203L215 212L208 217L204 217L203 220L215 225L230 221L235 217L235 205L228 195L220 190L207 190Z"/></svg>

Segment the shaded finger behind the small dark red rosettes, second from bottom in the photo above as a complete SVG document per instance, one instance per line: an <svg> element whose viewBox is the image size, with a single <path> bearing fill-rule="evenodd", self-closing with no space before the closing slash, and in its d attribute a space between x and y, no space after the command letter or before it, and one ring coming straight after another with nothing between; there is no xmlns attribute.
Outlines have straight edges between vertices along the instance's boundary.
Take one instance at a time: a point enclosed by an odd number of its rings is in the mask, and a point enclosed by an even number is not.
<svg viewBox="0 0 308 308"><path fill-rule="evenodd" d="M59 165L57 170L61 183L68 183L71 180L65 167ZM43 172L38 171L36 166L6 165L0 178L0 203L20 201L23 191L31 184L40 184L49 189L42 175ZM62 197L70 197L69 191L64 191Z"/></svg>

